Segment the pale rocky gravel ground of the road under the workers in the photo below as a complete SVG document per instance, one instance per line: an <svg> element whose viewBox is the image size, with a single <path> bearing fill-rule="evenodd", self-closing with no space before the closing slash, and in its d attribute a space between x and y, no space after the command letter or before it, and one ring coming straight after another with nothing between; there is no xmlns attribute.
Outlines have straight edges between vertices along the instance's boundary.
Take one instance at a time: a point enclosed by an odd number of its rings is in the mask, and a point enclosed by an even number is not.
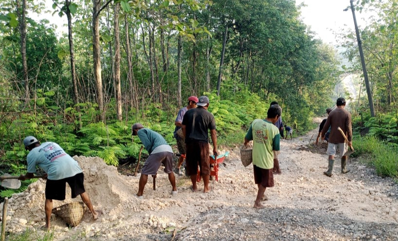
<svg viewBox="0 0 398 241"><path fill-rule="evenodd" d="M263 209L253 208L257 192L253 166L242 166L238 148L223 150L230 154L210 193L194 193L188 178L176 176L179 193L172 196L167 175L160 170L156 191L149 177L142 200L135 197L139 175L122 175L99 158L75 157L84 170L91 201L103 214L93 222L86 211L73 228L54 215L54 240L397 241L397 183L377 176L360 159L349 160L347 174L341 174L336 159L333 177L325 176L326 144L314 145L316 135L313 130L281 141L282 174L275 175L275 186L267 188L269 200ZM123 173L133 172L124 168ZM40 229L44 187L39 180L9 200L8 234L28 228L44 236ZM199 188L203 190L203 185ZM80 198L54 201L54 207L72 201Z"/></svg>

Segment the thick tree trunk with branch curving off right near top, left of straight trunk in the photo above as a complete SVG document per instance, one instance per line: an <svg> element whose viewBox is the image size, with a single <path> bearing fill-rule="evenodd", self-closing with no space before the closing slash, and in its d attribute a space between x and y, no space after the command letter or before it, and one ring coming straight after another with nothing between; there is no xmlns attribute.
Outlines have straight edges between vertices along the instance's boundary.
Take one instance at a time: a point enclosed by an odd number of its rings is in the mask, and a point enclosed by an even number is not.
<svg viewBox="0 0 398 241"><path fill-rule="evenodd" d="M99 14L101 0L93 0L92 7L92 55L94 80L96 84L97 103L100 111L101 120L105 121L104 110L104 95L102 90L102 76L101 76L101 49L99 36Z"/></svg>

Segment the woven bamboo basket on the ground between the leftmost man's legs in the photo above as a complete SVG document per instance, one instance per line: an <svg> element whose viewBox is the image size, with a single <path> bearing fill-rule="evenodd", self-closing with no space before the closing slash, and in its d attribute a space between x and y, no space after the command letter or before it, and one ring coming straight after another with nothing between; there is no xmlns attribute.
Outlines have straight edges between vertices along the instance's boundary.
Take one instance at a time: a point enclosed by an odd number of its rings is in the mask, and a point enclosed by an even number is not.
<svg viewBox="0 0 398 241"><path fill-rule="evenodd" d="M53 208L52 213L61 217L68 225L75 227L82 221L84 207L83 202L73 202Z"/></svg>

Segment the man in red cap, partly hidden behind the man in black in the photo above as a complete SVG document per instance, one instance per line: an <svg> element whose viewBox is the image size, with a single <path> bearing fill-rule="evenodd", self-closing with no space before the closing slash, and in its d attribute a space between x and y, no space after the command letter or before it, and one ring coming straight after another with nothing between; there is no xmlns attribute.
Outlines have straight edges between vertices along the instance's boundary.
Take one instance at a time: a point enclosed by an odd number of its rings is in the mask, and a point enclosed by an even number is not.
<svg viewBox="0 0 398 241"><path fill-rule="evenodd" d="M178 111L177 118L174 121L174 125L176 126L176 129L174 130L174 138L176 138L177 148L178 148L178 152L180 152L180 155L185 154L186 146L185 146L185 139L181 138L177 134L177 131L179 131L179 130L181 131L181 126L182 126L181 122L182 122L185 112L188 111L189 109L196 108L196 103L198 103L198 101L199 101L198 97L190 96L188 98L188 105L186 107L181 108L180 111ZM179 175L184 175L184 171L181 170L181 165L182 165L183 161L184 161L184 157L180 156L180 158L178 159L178 163L177 163L177 170L178 170Z"/></svg>

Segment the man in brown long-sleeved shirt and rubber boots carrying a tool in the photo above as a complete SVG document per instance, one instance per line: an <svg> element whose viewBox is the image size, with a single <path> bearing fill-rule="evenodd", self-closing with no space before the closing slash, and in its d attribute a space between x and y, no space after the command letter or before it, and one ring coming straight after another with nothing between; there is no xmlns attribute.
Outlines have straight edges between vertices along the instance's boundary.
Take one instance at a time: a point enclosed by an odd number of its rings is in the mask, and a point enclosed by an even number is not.
<svg viewBox="0 0 398 241"><path fill-rule="evenodd" d="M321 138L322 140L325 139L325 135L327 130L330 127L330 135L329 135L329 142L327 144L327 151L326 153L329 155L328 157L328 168L324 174L328 177L333 175L333 165L334 165L334 155L339 149L340 156L341 156L341 164L342 164L342 173L347 173L350 170L347 170L347 159L348 157L345 152L348 150L348 147L352 147L352 129L351 129L351 114L350 112L344 109L345 107L345 99L343 97L337 98L336 101L337 108L334 111L329 113L327 116L327 120L325 123L324 128L322 129ZM342 133L337 129L340 127L345 136L348 139L348 143L345 143L344 136Z"/></svg>

